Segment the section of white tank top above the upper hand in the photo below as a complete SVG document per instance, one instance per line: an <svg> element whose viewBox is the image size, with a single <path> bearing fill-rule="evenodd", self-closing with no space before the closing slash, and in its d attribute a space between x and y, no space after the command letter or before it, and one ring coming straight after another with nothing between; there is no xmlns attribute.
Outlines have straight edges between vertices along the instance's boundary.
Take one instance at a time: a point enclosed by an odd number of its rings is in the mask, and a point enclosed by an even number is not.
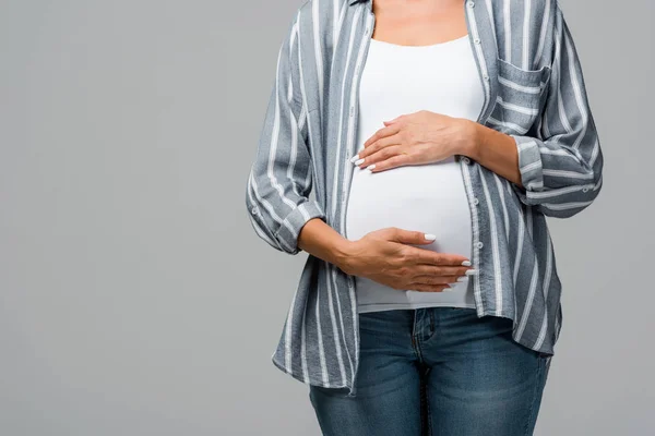
<svg viewBox="0 0 655 436"><path fill-rule="evenodd" d="M357 122L372 134L384 120L419 110L475 121L484 98L466 35L427 46L371 39L359 83Z"/></svg>

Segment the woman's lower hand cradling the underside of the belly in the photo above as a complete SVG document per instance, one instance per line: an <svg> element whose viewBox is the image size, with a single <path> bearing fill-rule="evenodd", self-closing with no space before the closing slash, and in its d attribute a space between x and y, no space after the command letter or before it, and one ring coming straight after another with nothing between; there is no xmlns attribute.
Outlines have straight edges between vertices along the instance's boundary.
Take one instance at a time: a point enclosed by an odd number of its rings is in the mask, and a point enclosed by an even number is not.
<svg viewBox="0 0 655 436"><path fill-rule="evenodd" d="M441 292L458 277L477 272L465 256L406 245L432 242L419 231L376 230L350 241L346 258L337 266L393 289L424 292Z"/></svg>

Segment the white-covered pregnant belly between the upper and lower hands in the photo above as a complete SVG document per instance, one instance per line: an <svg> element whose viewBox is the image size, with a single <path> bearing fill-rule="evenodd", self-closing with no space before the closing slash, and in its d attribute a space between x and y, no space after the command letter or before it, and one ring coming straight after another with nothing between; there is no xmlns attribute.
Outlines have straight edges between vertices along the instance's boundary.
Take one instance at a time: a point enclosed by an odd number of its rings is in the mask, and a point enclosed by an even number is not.
<svg viewBox="0 0 655 436"><path fill-rule="evenodd" d="M471 258L471 210L460 164L404 166L378 173L355 167L346 209L346 237L397 227L437 235L414 246Z"/></svg>

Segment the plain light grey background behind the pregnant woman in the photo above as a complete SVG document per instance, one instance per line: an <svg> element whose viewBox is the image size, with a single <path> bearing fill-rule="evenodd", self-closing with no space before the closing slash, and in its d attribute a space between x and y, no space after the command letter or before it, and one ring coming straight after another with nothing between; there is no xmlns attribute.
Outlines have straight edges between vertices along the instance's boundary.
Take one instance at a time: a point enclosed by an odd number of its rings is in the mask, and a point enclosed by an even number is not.
<svg viewBox="0 0 655 436"><path fill-rule="evenodd" d="M318 435L270 361L306 253L245 183L299 0L0 1L0 434ZM655 426L650 0L561 1L606 159L550 219L538 435Z"/></svg>

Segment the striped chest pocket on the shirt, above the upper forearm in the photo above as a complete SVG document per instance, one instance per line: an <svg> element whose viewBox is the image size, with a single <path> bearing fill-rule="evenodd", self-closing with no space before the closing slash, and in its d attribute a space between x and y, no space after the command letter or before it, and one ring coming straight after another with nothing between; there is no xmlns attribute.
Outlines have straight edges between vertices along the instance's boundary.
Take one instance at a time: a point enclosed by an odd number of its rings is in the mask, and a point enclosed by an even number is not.
<svg viewBox="0 0 655 436"><path fill-rule="evenodd" d="M497 58L499 92L488 123L507 134L524 135L540 113L550 66L524 70Z"/></svg>

